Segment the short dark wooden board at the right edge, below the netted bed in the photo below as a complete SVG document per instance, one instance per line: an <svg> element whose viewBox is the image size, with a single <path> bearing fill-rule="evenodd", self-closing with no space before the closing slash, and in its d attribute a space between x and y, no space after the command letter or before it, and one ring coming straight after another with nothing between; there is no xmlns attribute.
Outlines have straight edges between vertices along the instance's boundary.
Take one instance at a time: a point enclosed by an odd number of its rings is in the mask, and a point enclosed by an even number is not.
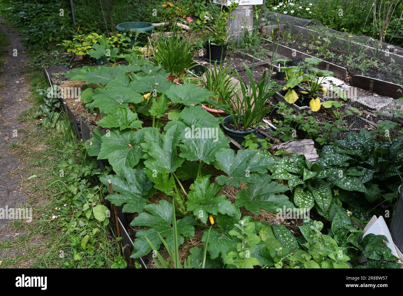
<svg viewBox="0 0 403 296"><path fill-rule="evenodd" d="M350 85L361 89L366 89L368 91L373 91L374 93L378 93L378 95L393 97L393 99L402 97L402 93L397 91L401 88L401 85L380 79L374 79L362 75L354 75L350 79Z"/></svg>

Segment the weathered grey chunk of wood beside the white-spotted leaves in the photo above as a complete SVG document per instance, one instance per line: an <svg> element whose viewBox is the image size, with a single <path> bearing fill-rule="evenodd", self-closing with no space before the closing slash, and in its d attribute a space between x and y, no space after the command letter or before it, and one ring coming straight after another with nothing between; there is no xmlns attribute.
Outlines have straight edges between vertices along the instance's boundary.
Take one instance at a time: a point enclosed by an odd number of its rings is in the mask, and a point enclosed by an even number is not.
<svg viewBox="0 0 403 296"><path fill-rule="evenodd" d="M307 161L315 162L319 158L315 149L315 143L312 139L304 140L292 140L286 143L274 144L269 150L271 153L275 153L278 150L285 149L291 153L297 153L305 155ZM285 154L291 158L290 154Z"/></svg>

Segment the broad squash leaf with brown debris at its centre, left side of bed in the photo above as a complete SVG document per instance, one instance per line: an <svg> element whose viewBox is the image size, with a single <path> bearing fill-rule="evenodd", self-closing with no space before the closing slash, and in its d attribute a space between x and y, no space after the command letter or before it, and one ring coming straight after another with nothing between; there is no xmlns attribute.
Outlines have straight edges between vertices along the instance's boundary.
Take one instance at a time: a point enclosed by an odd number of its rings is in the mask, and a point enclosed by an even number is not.
<svg viewBox="0 0 403 296"><path fill-rule="evenodd" d="M140 143L144 142L144 133L153 128L140 128L136 132L132 130L120 131L117 128L110 130L102 136L101 151L98 159L108 159L113 170L117 173L123 168L133 168L138 164L141 151Z"/></svg>

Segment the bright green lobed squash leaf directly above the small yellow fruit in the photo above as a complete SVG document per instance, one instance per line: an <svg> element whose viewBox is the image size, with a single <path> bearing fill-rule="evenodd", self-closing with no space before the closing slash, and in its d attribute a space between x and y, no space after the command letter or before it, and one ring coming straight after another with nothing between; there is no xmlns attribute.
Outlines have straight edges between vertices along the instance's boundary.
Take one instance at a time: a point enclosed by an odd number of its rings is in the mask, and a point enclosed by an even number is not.
<svg viewBox="0 0 403 296"><path fill-rule="evenodd" d="M235 206L225 195L216 195L223 186L210 184L208 177L198 178L190 185L187 194L188 201L186 207L188 211L193 211L193 215L203 223L207 222L208 214L217 213L233 216L236 214Z"/></svg>

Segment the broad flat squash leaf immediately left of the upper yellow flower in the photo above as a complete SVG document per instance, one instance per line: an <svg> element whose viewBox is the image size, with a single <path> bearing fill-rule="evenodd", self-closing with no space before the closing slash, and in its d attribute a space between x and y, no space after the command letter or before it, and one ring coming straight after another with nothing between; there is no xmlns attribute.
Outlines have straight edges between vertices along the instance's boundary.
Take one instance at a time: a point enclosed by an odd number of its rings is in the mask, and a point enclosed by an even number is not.
<svg viewBox="0 0 403 296"><path fill-rule="evenodd" d="M141 102L141 95L129 87L100 89L92 98L87 108L100 108L104 113L109 113L113 108L127 108L129 103Z"/></svg>

